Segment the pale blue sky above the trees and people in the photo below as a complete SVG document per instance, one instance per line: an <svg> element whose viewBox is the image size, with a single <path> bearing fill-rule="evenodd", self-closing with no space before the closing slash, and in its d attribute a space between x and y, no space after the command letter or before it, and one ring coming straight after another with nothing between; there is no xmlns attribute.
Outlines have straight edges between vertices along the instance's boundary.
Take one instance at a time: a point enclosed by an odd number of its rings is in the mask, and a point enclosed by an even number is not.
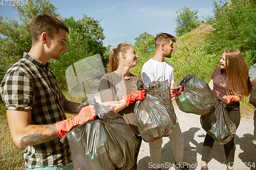
<svg viewBox="0 0 256 170"><path fill-rule="evenodd" d="M2 0L0 0L2 1ZM25 0L26 1L26 0ZM211 12L213 3L211 0L114 0L114 1L66 1L50 0L58 8L63 18L73 16L76 20L81 19L83 14L100 21L103 34L104 46L111 44L112 48L124 41L134 43L134 38L143 32L156 36L160 32L175 35L176 23L174 21L176 11L189 7L191 10L198 9L199 20L213 16ZM219 0L216 1L219 4ZM0 15L19 20L18 14L9 6L0 5Z"/></svg>

